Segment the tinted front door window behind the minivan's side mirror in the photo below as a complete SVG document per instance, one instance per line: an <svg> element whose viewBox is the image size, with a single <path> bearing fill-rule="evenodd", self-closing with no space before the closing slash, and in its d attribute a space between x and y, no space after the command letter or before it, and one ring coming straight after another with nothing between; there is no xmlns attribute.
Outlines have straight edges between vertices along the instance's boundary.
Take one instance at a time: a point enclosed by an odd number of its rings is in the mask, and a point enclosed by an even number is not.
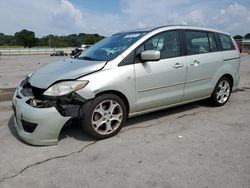
<svg viewBox="0 0 250 188"><path fill-rule="evenodd" d="M161 59L180 56L180 40L178 31L168 31L157 34L140 46L136 54L145 50L159 50Z"/></svg>

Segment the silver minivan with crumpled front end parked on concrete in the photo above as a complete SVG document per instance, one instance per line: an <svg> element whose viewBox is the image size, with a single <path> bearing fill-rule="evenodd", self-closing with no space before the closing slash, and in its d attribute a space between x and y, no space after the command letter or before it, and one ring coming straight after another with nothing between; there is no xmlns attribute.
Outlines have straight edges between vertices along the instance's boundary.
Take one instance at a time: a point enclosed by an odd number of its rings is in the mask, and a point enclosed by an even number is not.
<svg viewBox="0 0 250 188"><path fill-rule="evenodd" d="M13 96L15 127L32 145L56 144L72 120L90 136L109 138L131 116L206 98L224 105L238 86L239 67L236 43L220 31L120 32L22 80Z"/></svg>

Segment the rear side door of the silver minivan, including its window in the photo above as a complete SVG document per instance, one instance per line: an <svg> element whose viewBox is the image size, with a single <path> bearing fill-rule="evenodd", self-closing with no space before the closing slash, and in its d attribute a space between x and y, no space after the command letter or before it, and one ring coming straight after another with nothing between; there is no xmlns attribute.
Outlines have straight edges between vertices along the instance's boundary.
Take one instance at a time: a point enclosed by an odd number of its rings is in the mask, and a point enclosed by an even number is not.
<svg viewBox="0 0 250 188"><path fill-rule="evenodd" d="M222 66L223 57L216 45L214 33L185 30L187 76L184 101L209 96L213 91L212 78Z"/></svg>

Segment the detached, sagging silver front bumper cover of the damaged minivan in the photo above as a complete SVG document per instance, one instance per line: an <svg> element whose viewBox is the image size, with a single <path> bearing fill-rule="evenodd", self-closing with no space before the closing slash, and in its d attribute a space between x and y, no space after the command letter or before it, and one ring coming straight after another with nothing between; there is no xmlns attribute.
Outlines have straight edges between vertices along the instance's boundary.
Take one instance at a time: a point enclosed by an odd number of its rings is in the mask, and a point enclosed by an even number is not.
<svg viewBox="0 0 250 188"><path fill-rule="evenodd" d="M31 145L57 144L62 127L71 117L63 117L55 107L32 107L26 103L30 97L23 96L20 90L21 87L17 88L12 100L14 124L19 137ZM26 132L22 120L37 124L37 127L32 133Z"/></svg>

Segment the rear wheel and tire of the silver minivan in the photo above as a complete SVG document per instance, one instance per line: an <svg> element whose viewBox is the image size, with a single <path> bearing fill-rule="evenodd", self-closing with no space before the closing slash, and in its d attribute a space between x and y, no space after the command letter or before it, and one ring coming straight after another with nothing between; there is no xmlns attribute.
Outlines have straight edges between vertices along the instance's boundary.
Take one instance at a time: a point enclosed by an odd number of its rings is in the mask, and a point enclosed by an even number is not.
<svg viewBox="0 0 250 188"><path fill-rule="evenodd" d="M232 92L232 82L228 77L222 77L216 84L210 102L214 106L223 106L227 103Z"/></svg>

